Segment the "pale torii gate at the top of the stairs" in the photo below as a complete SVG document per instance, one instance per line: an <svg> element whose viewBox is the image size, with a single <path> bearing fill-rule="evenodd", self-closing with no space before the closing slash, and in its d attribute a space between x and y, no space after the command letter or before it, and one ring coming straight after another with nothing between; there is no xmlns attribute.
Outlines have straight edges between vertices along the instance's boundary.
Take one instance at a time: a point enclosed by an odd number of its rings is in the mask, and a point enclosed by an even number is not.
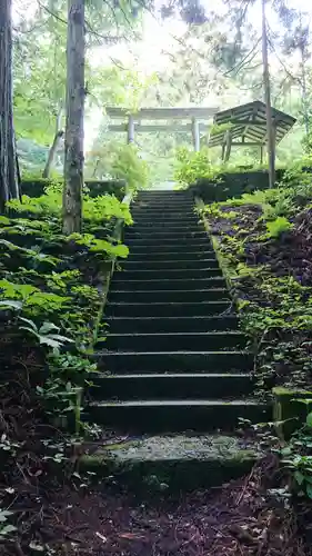
<svg viewBox="0 0 312 556"><path fill-rule="evenodd" d="M150 133L167 131L169 133L191 132L195 151L200 150L201 132L208 132L208 123L219 108L141 108L132 113L127 108L107 107L111 120L123 120L121 123L109 123L109 131L127 132L128 143L134 141L135 132ZM142 120L157 120L157 123L142 123ZM159 121L163 120L163 121ZM169 123L168 120L190 120L185 123Z"/></svg>

